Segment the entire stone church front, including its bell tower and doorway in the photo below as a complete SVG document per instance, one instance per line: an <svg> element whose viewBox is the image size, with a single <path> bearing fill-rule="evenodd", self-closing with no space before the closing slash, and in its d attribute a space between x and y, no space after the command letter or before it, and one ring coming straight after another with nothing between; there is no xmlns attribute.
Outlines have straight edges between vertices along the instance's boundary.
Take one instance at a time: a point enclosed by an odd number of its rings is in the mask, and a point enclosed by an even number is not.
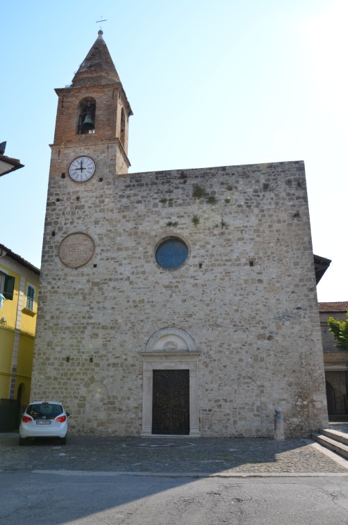
<svg viewBox="0 0 348 525"><path fill-rule="evenodd" d="M31 399L72 433L285 437L327 425L301 161L128 174L99 31L56 90Z"/></svg>

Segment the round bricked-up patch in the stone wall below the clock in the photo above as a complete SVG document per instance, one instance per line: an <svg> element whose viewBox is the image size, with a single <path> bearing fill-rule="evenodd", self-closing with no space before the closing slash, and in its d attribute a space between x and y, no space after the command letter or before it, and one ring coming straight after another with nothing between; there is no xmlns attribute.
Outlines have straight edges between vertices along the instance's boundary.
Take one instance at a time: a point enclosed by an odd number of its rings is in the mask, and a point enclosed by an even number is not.
<svg viewBox="0 0 348 525"><path fill-rule="evenodd" d="M87 233L71 233L60 243L59 257L69 268L79 268L88 263L94 253L94 241Z"/></svg>

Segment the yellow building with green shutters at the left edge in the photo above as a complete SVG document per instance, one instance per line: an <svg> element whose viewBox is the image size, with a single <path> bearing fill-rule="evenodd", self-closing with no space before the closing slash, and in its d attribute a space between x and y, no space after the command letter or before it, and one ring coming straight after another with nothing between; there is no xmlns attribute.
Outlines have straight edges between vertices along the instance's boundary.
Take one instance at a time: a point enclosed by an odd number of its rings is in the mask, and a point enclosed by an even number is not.
<svg viewBox="0 0 348 525"><path fill-rule="evenodd" d="M0 244L0 431L29 401L40 269Z"/></svg>

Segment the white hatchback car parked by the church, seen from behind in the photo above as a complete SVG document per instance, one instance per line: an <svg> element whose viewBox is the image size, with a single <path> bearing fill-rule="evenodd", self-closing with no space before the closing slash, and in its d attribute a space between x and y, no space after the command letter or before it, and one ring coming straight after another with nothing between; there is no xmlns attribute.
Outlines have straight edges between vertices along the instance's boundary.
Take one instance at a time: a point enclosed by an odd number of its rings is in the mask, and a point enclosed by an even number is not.
<svg viewBox="0 0 348 525"><path fill-rule="evenodd" d="M59 437L60 444L66 444L69 415L60 401L32 401L22 415L19 444L27 437Z"/></svg>

